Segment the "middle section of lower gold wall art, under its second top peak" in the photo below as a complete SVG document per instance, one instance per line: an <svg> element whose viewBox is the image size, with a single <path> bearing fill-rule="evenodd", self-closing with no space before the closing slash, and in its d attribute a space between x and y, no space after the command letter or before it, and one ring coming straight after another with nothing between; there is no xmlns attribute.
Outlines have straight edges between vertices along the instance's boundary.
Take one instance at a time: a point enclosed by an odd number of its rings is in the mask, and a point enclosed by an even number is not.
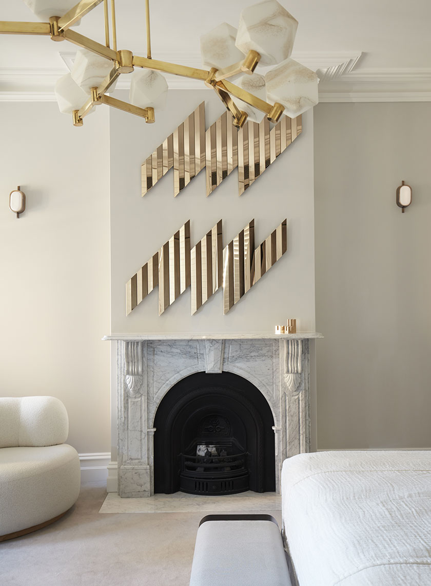
<svg viewBox="0 0 431 586"><path fill-rule="evenodd" d="M223 284L222 220L191 249L191 314Z"/></svg>

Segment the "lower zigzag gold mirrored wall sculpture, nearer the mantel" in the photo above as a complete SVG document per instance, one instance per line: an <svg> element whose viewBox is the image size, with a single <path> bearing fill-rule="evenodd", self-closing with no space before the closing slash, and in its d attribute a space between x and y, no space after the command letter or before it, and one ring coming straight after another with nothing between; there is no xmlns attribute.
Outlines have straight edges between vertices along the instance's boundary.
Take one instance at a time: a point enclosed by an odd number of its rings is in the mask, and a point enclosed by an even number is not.
<svg viewBox="0 0 431 586"><path fill-rule="evenodd" d="M223 286L223 313L287 251L287 220L254 248L254 220L223 248L222 220L193 248L190 220L126 284L126 315L158 285L158 315L191 285L194 315Z"/></svg>

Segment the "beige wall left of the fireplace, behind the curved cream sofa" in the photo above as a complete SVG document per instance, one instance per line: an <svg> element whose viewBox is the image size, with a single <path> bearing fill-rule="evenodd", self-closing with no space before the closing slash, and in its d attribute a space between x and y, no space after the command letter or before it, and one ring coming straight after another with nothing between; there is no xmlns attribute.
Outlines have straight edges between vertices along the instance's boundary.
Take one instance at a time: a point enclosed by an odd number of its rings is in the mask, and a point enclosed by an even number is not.
<svg viewBox="0 0 431 586"><path fill-rule="evenodd" d="M60 398L68 442L108 452L108 111L79 129L56 103L0 112L0 395ZM20 219L8 206L17 185Z"/></svg>

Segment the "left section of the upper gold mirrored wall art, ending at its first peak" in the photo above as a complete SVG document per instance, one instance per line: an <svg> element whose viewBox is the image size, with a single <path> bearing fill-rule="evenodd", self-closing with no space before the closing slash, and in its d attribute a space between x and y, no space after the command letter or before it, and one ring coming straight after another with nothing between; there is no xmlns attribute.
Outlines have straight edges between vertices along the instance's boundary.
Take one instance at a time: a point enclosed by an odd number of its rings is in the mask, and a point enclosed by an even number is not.
<svg viewBox="0 0 431 586"><path fill-rule="evenodd" d="M174 168L174 196L205 167L205 102L141 166L142 195Z"/></svg>

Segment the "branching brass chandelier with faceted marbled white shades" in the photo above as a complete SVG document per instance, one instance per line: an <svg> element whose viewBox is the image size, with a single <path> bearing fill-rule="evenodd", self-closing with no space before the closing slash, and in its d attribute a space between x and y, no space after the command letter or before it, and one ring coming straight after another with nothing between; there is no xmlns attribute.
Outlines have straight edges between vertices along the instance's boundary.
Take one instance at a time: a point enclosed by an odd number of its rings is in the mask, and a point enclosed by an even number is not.
<svg viewBox="0 0 431 586"><path fill-rule="evenodd" d="M112 47L108 0L81 0L75 6L74 0L24 1L41 21L49 22L0 21L0 33L46 35L54 41L68 40L81 47L71 73L56 84L60 111L73 116L74 126L82 126L85 116L98 104L108 104L154 122L154 110L163 109L168 90L160 72L198 79L215 90L237 128L242 128L246 120L260 122L265 116L274 123L283 113L294 118L318 103L318 76L290 58L298 22L277 0L245 8L237 30L222 23L201 36L202 61L208 69L152 58L149 0L145 0L147 57L117 49L115 0L110 2ZM72 29L102 2L105 45ZM56 16L50 16L53 11ZM258 64L274 67L263 76L255 73ZM132 73L130 103L108 95L123 73Z"/></svg>

